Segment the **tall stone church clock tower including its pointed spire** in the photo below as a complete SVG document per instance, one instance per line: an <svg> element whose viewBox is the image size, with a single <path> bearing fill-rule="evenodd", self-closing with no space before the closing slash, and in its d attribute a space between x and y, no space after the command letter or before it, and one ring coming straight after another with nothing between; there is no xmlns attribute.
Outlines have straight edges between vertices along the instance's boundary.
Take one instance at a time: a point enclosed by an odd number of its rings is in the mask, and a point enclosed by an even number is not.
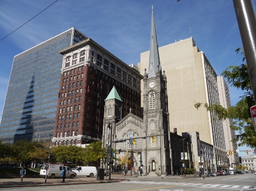
<svg viewBox="0 0 256 191"><path fill-rule="evenodd" d="M143 76L144 133L146 136L159 135L146 139L143 163L146 162L144 166L147 166L148 172L164 175L171 172L167 79L161 69L153 6L148 74L145 69Z"/></svg>

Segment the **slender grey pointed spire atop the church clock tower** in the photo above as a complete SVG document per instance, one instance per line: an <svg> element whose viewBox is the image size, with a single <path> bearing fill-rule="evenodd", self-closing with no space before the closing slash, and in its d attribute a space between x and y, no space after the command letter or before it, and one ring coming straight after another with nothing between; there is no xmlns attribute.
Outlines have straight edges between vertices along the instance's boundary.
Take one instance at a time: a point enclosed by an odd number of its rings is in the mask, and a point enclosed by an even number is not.
<svg viewBox="0 0 256 191"><path fill-rule="evenodd" d="M158 43L157 43L156 30L155 30L155 17L154 17L153 6L152 6L148 78L152 78L156 76L157 66L159 66L159 70L161 72Z"/></svg>

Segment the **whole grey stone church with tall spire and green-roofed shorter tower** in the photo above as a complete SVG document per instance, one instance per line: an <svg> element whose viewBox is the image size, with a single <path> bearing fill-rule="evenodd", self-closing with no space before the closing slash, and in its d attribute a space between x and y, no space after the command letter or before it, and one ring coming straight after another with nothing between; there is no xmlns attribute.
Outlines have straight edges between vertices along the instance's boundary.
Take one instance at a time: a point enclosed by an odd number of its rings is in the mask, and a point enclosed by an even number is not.
<svg viewBox="0 0 256 191"><path fill-rule="evenodd" d="M127 166L128 170L137 171L141 166L143 173L150 172L160 176L170 174L167 79L164 71L161 70L153 7L148 73L145 69L143 76L143 118L134 115L131 110L128 115L122 117L122 100L115 87L106 98L103 146L109 145L111 140L120 139L119 142L112 143L111 147L116 151L119 149L122 151L120 154L116 154L116 158L132 157L132 164ZM110 131L108 127L112 127L112 130ZM140 137L144 137L144 139ZM131 138L135 138L135 144L132 144L132 140L125 140ZM137 152L141 153L137 156ZM116 165L118 165L118 161L114 161L114 166Z"/></svg>

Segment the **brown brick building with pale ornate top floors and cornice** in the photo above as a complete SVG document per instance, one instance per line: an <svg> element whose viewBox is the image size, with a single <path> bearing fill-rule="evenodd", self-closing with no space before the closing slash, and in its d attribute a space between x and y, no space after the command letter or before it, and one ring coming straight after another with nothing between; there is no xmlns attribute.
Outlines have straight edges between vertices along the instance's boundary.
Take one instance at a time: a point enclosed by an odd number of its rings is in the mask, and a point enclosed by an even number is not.
<svg viewBox="0 0 256 191"><path fill-rule="evenodd" d="M63 55L53 145L85 146L101 140L104 100L115 86L122 99L121 116L141 116L143 76L88 38Z"/></svg>

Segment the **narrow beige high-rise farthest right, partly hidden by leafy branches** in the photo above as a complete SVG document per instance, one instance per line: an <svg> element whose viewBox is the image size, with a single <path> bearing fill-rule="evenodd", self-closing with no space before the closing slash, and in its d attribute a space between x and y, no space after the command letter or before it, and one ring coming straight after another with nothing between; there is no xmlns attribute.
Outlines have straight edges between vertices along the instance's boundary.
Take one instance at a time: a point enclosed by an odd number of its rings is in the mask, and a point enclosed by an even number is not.
<svg viewBox="0 0 256 191"><path fill-rule="evenodd" d="M229 87L222 76L217 76L217 83L219 89L220 104L224 108L229 108L231 106ZM227 151L231 150L233 152L232 155L229 155L229 164L239 163L238 153L236 153L237 144L231 142L231 140L234 139L236 136L235 130L232 130L230 128L230 126L233 125L233 120L224 120L222 121L222 124L225 136L226 149Z"/></svg>

